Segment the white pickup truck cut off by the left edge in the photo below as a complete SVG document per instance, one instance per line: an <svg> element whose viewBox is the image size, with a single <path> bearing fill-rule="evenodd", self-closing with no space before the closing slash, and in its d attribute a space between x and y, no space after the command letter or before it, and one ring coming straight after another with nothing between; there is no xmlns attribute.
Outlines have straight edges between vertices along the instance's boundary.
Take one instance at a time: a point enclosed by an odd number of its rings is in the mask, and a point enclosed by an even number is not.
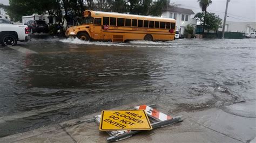
<svg viewBox="0 0 256 143"><path fill-rule="evenodd" d="M0 19L0 42L3 46L14 46L17 41L28 41L29 32L27 25L14 25Z"/></svg>

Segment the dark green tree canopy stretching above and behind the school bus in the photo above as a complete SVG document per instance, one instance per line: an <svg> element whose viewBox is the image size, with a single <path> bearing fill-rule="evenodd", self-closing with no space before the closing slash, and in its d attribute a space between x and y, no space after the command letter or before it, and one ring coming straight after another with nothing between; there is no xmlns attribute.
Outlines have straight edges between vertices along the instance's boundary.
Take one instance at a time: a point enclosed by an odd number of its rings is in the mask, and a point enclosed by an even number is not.
<svg viewBox="0 0 256 143"><path fill-rule="evenodd" d="M63 11L65 19L72 16L74 20L82 16L84 10L160 16L162 10L170 5L170 0L9 0L9 3L5 10L15 21L32 13L49 14L61 21Z"/></svg>

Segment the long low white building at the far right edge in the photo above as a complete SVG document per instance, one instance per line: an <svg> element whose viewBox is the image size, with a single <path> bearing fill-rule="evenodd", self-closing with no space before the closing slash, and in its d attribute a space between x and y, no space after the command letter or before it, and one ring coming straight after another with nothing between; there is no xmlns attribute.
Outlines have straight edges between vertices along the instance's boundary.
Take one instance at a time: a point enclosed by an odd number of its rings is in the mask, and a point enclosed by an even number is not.
<svg viewBox="0 0 256 143"><path fill-rule="evenodd" d="M222 22L223 23L223 22ZM222 31L222 27L219 28ZM256 31L256 22L230 22L226 21L225 31L250 33Z"/></svg>

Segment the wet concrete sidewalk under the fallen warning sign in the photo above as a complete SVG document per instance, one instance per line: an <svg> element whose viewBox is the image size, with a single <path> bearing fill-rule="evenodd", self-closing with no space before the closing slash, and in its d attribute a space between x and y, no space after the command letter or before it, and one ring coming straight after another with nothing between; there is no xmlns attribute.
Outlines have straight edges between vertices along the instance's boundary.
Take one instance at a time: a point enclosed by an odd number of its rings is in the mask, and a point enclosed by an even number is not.
<svg viewBox="0 0 256 143"><path fill-rule="evenodd" d="M0 142L106 142L107 133L99 131L95 122L86 123L99 114L10 135L0 138ZM183 122L145 131L119 142L255 142L255 118L234 116L217 108L178 115L183 115Z"/></svg>

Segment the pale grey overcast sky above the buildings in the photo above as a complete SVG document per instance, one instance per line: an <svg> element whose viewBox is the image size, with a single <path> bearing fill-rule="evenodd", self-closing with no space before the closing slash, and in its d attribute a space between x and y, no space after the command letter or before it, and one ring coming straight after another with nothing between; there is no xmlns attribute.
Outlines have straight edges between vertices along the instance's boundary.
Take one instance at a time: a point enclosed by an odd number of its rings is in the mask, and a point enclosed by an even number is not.
<svg viewBox="0 0 256 143"><path fill-rule="evenodd" d="M201 12L197 0L171 0L171 2L181 4L182 8L192 9L194 13ZM0 3L7 5L9 0L0 0ZM224 19L225 8L226 0L212 0L207 10ZM256 0L231 0L228 4L228 16L227 20L234 22L256 22Z"/></svg>

